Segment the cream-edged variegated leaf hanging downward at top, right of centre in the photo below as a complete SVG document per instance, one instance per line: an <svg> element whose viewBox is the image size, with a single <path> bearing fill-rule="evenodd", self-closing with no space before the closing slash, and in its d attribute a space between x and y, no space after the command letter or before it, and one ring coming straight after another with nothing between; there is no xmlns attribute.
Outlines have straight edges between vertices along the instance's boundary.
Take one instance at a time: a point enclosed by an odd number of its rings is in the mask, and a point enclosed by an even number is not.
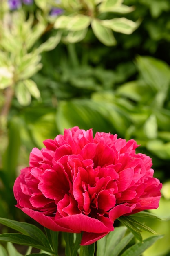
<svg viewBox="0 0 170 256"><path fill-rule="evenodd" d="M110 28L102 24L100 20L93 19L91 22L91 27L95 36L101 41L104 45L112 46L116 45L116 40L113 36L113 32Z"/></svg>

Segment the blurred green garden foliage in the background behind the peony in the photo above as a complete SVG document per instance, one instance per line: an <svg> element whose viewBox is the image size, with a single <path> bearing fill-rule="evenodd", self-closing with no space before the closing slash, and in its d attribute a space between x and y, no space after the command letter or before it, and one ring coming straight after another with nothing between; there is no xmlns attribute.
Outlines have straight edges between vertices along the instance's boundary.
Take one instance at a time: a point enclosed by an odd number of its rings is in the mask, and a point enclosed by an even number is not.
<svg viewBox="0 0 170 256"><path fill-rule="evenodd" d="M0 217L25 220L13 183L44 139L73 126L117 133L163 183L151 212L166 221L149 224L165 236L144 256L169 256L170 1L0 4Z"/></svg>

